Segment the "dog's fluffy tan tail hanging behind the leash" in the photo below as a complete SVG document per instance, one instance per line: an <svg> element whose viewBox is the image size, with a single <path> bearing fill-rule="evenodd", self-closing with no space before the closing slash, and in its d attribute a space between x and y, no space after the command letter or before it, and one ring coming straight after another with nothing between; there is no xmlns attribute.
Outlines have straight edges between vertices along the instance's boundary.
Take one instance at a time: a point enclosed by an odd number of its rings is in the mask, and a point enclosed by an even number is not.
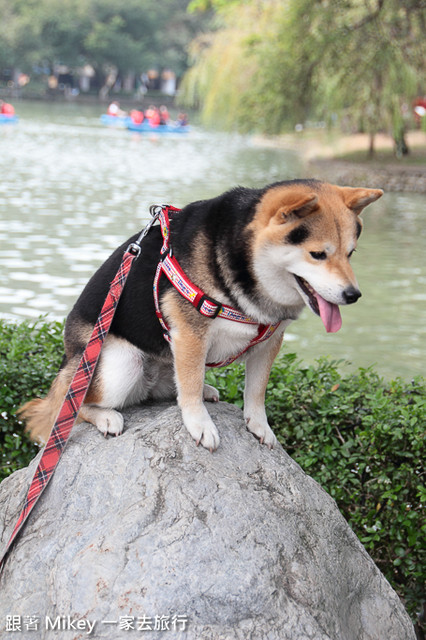
<svg viewBox="0 0 426 640"><path fill-rule="evenodd" d="M46 444L72 378L69 366L61 369L45 398L35 398L18 409L16 415L25 420L25 431L31 440Z"/></svg>

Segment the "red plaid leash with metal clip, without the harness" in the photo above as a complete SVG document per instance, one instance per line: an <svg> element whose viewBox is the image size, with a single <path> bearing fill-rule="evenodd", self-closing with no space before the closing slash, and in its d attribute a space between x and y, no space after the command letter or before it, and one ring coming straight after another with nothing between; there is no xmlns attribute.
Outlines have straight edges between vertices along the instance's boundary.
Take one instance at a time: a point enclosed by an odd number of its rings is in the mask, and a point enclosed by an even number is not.
<svg viewBox="0 0 426 640"><path fill-rule="evenodd" d="M31 481L21 515L15 524L13 533L6 545L3 555L0 558L0 572L3 569L6 555L15 538L23 528L28 516L46 488L58 465L80 407L84 402L96 363L99 359L102 345L108 335L115 310L120 300L124 285L126 284L127 276L129 275L133 261L140 255L140 243L156 221L157 217L157 215L154 215L136 242L129 245L123 255L120 268L117 271L114 280L111 282L110 289L94 326L90 340L86 345L86 349L81 357L77 371L70 383L65 400L59 411L58 417L56 418L55 424L53 425L52 432Z"/></svg>

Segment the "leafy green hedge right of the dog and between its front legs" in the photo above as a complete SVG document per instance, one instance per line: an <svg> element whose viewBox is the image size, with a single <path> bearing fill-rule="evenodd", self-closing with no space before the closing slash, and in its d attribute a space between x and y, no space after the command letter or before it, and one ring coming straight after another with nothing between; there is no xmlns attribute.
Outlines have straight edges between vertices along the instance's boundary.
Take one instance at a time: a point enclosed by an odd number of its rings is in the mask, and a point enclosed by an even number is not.
<svg viewBox="0 0 426 640"><path fill-rule="evenodd" d="M275 363L267 413L286 451L336 500L374 561L415 616L424 597L426 386L385 383L339 363ZM210 371L223 400L242 405L243 367Z"/></svg>

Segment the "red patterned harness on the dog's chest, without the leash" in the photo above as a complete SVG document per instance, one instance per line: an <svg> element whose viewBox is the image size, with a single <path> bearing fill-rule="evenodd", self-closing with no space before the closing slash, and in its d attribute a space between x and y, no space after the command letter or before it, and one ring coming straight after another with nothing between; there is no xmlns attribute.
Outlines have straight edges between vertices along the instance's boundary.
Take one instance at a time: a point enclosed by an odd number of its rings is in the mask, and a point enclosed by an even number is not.
<svg viewBox="0 0 426 640"><path fill-rule="evenodd" d="M160 220L161 233L163 236L163 246L161 248L161 258L157 266L157 271L154 278L154 301L157 318L164 329L164 338L171 342L169 327L167 326L163 314L160 309L158 284L161 275L164 273L169 279L174 288L190 302L203 316L207 318L223 318L225 320L232 320L233 322L240 322L242 324L250 324L257 326L257 335L249 342L249 344L236 355L230 356L226 360L221 362L207 363L208 367L225 367L232 362L235 362L246 351L254 347L256 344L267 340L272 336L274 331L279 327L280 323L264 325L259 324L256 320L245 316L237 309L230 307L226 304L221 304L207 296L202 289L197 287L196 284L191 282L188 276L185 274L176 257L173 255L172 247L170 246L170 219L173 214L179 213L180 209L176 209L170 205L162 205L158 207L151 207L151 215L154 218Z"/></svg>

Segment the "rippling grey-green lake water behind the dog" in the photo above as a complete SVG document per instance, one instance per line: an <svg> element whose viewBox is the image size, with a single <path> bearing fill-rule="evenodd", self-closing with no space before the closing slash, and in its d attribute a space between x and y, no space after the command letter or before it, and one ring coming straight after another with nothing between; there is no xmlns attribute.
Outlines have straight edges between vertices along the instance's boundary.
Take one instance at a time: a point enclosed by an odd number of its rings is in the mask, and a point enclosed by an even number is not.
<svg viewBox="0 0 426 640"><path fill-rule="evenodd" d="M204 131L142 137L100 124L94 105L16 103L0 126L0 317L63 318L99 264L140 230L151 204L182 206L241 184L304 177L291 150ZM366 186L366 185L360 185ZM285 349L385 377L425 375L426 196L389 193L363 215L352 259L363 292L327 335L305 310Z"/></svg>

